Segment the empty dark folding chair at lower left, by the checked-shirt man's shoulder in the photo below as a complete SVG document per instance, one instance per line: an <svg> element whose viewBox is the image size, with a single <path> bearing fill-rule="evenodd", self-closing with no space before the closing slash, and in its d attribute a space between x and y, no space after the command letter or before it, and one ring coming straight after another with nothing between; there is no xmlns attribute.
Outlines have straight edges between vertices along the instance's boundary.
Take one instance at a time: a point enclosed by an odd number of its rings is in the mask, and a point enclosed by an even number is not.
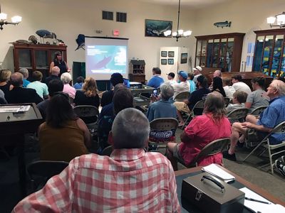
<svg viewBox="0 0 285 213"><path fill-rule="evenodd" d="M53 161L53 160L37 160L29 163L27 166L28 176L31 180L31 188L34 191L39 190L46 185L49 178L54 175L58 175L68 166L68 162L65 161ZM35 186L35 180L38 178L38 187Z"/></svg>

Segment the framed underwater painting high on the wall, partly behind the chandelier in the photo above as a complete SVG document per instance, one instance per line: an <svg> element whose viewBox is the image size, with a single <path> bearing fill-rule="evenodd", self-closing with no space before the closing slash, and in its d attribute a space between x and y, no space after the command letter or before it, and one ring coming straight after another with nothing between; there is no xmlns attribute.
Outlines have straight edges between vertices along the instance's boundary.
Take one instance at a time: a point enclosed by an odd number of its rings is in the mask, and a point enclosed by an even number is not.
<svg viewBox="0 0 285 213"><path fill-rule="evenodd" d="M166 37L165 31L172 31L172 21L145 19L145 36Z"/></svg>

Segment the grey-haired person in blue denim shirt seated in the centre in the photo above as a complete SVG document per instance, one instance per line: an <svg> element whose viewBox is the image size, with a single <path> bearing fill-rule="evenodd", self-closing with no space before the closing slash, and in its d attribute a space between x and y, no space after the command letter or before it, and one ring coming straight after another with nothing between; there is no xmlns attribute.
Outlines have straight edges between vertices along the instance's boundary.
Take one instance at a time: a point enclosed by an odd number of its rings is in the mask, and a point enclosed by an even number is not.
<svg viewBox="0 0 285 213"><path fill-rule="evenodd" d="M152 121L160 118L174 118L176 119L176 108L170 98L174 94L174 89L170 83L163 83L160 85L160 100L150 104L147 109L147 119Z"/></svg>

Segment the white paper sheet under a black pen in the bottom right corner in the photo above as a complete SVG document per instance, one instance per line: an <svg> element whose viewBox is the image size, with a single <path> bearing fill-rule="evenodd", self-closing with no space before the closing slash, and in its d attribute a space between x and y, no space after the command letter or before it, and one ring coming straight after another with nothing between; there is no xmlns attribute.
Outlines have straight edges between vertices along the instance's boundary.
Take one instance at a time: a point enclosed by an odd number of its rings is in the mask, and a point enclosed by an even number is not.
<svg viewBox="0 0 285 213"><path fill-rule="evenodd" d="M251 201L251 200L244 200L244 206L252 209L254 212L261 212L261 213L284 213L285 207L271 203L269 200L266 200L264 197L261 197L257 193L253 192L252 190L249 190L247 187L244 187L240 189L242 192L245 193L245 197L249 197L255 200L261 200L264 202L269 202L270 204L264 204L261 202Z"/></svg>

